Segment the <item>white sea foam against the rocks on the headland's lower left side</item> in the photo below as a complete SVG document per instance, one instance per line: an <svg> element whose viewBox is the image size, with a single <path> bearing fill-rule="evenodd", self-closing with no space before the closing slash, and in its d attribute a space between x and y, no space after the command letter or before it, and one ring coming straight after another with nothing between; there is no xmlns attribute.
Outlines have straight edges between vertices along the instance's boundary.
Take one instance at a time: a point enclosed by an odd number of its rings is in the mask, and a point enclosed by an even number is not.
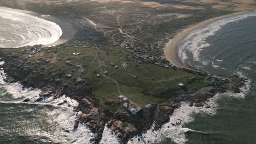
<svg viewBox="0 0 256 144"><path fill-rule="evenodd" d="M3 65L4 62L0 62ZM0 70L2 75L0 76L0 87L4 88L5 91L15 99L15 101L1 101L0 103L24 103L37 106L52 106L53 109L45 109L46 115L54 126L53 132L46 133L44 131L31 131L30 135L34 136L45 136L55 142L60 143L91 143L90 140L94 139L95 134L90 131L88 126L84 123L79 123L79 127L73 130L75 121L77 120L78 112L74 111L74 107L78 106L78 102L62 95L62 97L54 98L48 97L38 103L25 103L22 102L24 99L34 100L39 98L39 94L42 92L40 89L22 88L22 85L18 82L6 83L4 82L5 73L4 70ZM6 93L4 93L6 94ZM65 104L59 105L63 102ZM28 110L29 111L29 110ZM29 131L28 131L29 133Z"/></svg>

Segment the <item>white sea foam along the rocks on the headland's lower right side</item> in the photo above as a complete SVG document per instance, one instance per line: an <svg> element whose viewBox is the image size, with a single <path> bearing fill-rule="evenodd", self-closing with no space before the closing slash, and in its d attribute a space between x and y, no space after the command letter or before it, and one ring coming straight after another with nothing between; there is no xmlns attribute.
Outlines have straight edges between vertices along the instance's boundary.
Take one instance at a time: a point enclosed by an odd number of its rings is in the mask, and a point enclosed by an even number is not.
<svg viewBox="0 0 256 144"><path fill-rule="evenodd" d="M240 71L236 72L237 75L245 77ZM181 107L174 110L173 115L170 116L170 122L162 125L162 128L154 131L154 125L142 136L133 137L128 143L130 144L145 144L145 143L159 143L166 138L170 138L173 142L183 144L188 140L185 137L187 131L194 131L195 133L205 133L203 131L195 131L189 128L184 128L184 124L194 121L193 115L195 113L201 113L202 115L214 115L216 110L219 109L218 100L223 97L230 98L245 98L245 95L251 88L251 80L245 82L245 85L240 88L241 93L226 92L222 94L216 94L214 97L208 99L203 103L203 107L189 106L189 103L182 102ZM210 108L208 108L210 106ZM139 140L138 140L139 138Z"/></svg>

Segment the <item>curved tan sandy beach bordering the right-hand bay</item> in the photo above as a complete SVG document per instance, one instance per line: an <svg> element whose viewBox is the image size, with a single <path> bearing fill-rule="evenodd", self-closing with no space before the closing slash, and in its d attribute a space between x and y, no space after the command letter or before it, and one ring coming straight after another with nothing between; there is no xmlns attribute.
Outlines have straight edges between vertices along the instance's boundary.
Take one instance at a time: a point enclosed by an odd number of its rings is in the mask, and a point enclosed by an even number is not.
<svg viewBox="0 0 256 144"><path fill-rule="evenodd" d="M211 22L221 20L221 19L225 19L226 17L232 17L232 16L236 16L236 15L245 14L245 13L248 13L248 12L249 11L224 15L224 16L220 16L220 17L215 17L213 19L197 23L196 25L193 25L191 27L188 27L188 28L184 29L182 32L178 33L174 38L170 39L168 41L168 43L165 45L165 47L164 47L164 56L166 57L166 59L168 61L170 61L176 67L180 67L180 68L186 67L181 62L179 62L179 58L178 58L178 55L177 55L177 45L179 43L181 43L181 41L183 39L185 39L188 36L188 34L195 31L196 29L199 29L201 27L209 25Z"/></svg>

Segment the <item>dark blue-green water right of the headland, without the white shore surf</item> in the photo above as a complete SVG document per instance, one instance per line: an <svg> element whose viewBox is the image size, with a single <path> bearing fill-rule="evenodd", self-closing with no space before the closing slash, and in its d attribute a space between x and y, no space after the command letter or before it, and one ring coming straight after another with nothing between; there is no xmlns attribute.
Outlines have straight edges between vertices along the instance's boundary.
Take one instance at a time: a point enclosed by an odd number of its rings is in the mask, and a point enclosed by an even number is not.
<svg viewBox="0 0 256 144"><path fill-rule="evenodd" d="M212 74L243 74L251 90L244 98L220 97L216 115L194 115L184 127L203 133L187 133L187 143L256 143L256 17L230 22L203 41L207 46L188 52L185 63Z"/></svg>

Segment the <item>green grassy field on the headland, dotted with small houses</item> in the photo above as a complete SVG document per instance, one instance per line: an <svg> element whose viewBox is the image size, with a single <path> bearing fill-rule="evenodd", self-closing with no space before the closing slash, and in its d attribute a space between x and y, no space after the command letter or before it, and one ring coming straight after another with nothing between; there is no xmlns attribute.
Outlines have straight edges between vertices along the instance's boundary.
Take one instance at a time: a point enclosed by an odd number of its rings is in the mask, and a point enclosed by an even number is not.
<svg viewBox="0 0 256 144"><path fill-rule="evenodd" d="M187 83L186 80L194 76L193 74L139 61L133 57L134 54L120 46L97 48L57 46L45 48L43 52L37 53L32 58L28 58L27 53L22 54L22 49L3 49L2 51L4 53L19 53L19 59L30 61L30 65L39 65L38 70L45 67L45 70L41 72L44 73L46 79L61 80L60 83L56 83L56 87L62 87L64 83L67 83L68 85L84 85L91 88L92 95L100 100L102 107L105 107L104 100L106 98L118 100L119 95L125 95L143 107L152 103L165 103L179 94L195 92L197 89L207 86L203 76L198 76L193 83ZM74 56L73 52L79 52L81 55ZM67 53L71 53L71 55L66 55ZM126 61L127 57L131 61ZM40 60L42 58L49 59L49 63L38 63L42 61ZM72 62L72 65L67 65L67 61ZM126 63L126 67L123 67L124 63ZM77 65L81 67L77 68ZM59 69L61 69L62 75L56 75ZM53 72L48 74L49 70L53 70ZM108 73L105 75L102 71L108 71ZM67 79L66 74L71 74L72 79ZM96 74L101 76L97 77ZM78 77L86 82L75 83ZM44 82L46 83L46 81ZM179 83L184 83L185 88L179 87Z"/></svg>

